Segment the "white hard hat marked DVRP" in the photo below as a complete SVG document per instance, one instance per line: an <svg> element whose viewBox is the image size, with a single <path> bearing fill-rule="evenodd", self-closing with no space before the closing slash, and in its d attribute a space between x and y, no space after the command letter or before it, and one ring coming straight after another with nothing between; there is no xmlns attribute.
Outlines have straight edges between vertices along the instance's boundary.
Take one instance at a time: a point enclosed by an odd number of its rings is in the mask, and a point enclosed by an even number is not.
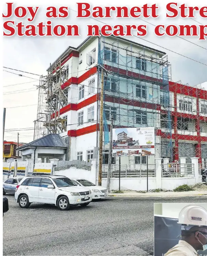
<svg viewBox="0 0 207 256"><path fill-rule="evenodd" d="M179 213L178 224L182 224L182 230L189 230L193 226L207 226L207 210L198 205L185 206Z"/></svg>

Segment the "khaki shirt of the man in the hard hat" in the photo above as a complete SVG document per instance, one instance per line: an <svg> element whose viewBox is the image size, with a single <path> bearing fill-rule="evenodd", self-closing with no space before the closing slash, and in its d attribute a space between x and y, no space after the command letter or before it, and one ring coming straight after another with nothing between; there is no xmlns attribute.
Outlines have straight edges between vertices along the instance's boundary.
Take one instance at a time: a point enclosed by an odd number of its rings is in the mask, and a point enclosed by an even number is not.
<svg viewBox="0 0 207 256"><path fill-rule="evenodd" d="M179 243L169 249L164 256L199 256L196 250L187 242L180 240Z"/></svg>

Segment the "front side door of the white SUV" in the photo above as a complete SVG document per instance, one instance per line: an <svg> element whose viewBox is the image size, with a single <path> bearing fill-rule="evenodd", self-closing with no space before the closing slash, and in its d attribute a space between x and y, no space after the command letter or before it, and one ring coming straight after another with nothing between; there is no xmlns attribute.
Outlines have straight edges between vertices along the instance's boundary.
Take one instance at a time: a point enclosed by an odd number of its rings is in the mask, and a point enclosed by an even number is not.
<svg viewBox="0 0 207 256"><path fill-rule="evenodd" d="M39 202L40 203L55 203L55 186L47 188L48 185L53 185L49 178L42 178L39 187Z"/></svg>

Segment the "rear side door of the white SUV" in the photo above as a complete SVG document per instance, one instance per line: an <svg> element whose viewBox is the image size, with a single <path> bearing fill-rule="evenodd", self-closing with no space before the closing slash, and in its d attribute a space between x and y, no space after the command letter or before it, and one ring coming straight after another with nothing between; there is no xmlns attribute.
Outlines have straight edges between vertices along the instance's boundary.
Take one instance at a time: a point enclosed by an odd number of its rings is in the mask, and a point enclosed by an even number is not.
<svg viewBox="0 0 207 256"><path fill-rule="evenodd" d="M27 186L25 187L25 192L29 197L29 202L38 203L39 202L39 187L40 187L40 177L32 178Z"/></svg>

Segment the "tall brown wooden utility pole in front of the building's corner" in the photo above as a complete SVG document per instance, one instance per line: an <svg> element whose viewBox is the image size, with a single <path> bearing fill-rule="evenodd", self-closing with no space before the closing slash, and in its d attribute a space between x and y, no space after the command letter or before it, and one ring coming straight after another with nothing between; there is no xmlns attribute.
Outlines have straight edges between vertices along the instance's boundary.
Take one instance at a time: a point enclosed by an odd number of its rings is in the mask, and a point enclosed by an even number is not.
<svg viewBox="0 0 207 256"><path fill-rule="evenodd" d="M99 127L99 168L98 185L101 186L102 179L102 149L103 148L103 69L101 70L101 95L100 95L100 127Z"/></svg>

